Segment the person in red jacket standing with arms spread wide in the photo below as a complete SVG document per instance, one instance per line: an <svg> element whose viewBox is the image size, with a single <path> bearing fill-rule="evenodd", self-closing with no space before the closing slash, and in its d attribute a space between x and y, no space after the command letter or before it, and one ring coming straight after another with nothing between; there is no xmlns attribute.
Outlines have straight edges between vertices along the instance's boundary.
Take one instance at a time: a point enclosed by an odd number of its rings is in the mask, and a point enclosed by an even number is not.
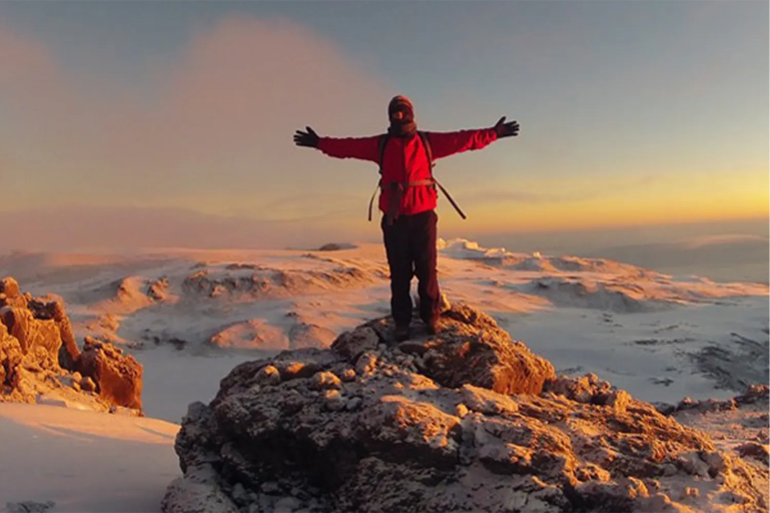
<svg viewBox="0 0 770 513"><path fill-rule="evenodd" d="M413 276L418 280L420 318L430 335L436 333L440 315L437 191L432 160L478 150L499 138L518 135L519 124L506 122L504 116L491 128L418 132L413 104L403 95L390 100L387 115L390 120L387 134L320 137L308 126L305 132L296 131L294 142L300 147L316 148L330 157L358 158L380 165L379 207L383 212L380 225L390 268L390 310L396 325L396 339L405 341L410 338Z"/></svg>

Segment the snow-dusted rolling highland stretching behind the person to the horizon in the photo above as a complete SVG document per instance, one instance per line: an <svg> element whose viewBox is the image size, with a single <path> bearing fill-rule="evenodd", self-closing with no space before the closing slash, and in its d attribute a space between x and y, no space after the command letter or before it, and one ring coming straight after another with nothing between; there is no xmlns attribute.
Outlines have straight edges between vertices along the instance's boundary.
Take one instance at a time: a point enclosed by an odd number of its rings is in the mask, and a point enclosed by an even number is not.
<svg viewBox="0 0 770 513"><path fill-rule="evenodd" d="M608 375L648 400L711 397L709 369L719 362L705 369L691 355L732 347L730 332L760 340L768 328L767 285L678 277L608 258L485 248L467 238L440 239L437 248L450 303L489 312L557 368ZM0 273L35 294L62 298L79 341L89 335L125 348L145 366L146 386L185 399L216 391L198 377L211 365L221 376L249 358L327 347L342 331L390 311L380 243L333 252L169 248L28 256L0 259ZM633 365L639 358L645 363ZM756 370L747 373L762 375ZM186 404L169 406L152 394L147 401L148 415L171 421Z"/></svg>

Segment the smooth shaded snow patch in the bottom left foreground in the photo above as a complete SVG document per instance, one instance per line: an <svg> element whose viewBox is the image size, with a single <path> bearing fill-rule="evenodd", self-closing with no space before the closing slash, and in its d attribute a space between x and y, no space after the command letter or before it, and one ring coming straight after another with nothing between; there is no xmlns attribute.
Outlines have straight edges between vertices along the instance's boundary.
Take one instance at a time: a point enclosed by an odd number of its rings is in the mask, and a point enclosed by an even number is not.
<svg viewBox="0 0 770 513"><path fill-rule="evenodd" d="M180 474L178 430L152 418L0 403L0 511L25 501L51 501L52 513L158 511Z"/></svg>

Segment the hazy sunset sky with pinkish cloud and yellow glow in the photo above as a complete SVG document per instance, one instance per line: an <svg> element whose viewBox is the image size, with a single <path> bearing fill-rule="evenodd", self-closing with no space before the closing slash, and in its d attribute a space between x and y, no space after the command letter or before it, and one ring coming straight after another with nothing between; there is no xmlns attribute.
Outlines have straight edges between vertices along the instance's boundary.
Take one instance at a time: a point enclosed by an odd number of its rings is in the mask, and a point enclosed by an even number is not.
<svg viewBox="0 0 770 513"><path fill-rule="evenodd" d="M396 94L521 124L438 163L444 235L770 218L767 48L766 0L0 0L2 239L378 240L376 165L292 135L380 133Z"/></svg>

